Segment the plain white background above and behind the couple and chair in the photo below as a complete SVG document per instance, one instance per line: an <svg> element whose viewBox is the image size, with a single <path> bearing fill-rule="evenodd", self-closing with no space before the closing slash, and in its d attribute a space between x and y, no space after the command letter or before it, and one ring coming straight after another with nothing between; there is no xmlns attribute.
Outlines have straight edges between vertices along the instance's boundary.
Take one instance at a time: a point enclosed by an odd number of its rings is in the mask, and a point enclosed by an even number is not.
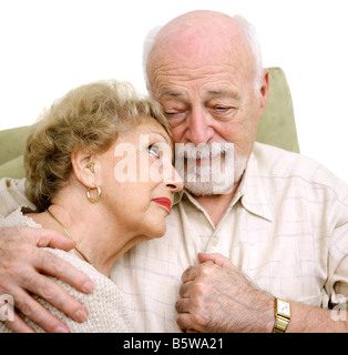
<svg viewBox="0 0 348 355"><path fill-rule="evenodd" d="M301 153L348 182L347 0L0 0L0 130L94 80L145 92L145 34L196 9L254 23L264 65L287 75Z"/></svg>

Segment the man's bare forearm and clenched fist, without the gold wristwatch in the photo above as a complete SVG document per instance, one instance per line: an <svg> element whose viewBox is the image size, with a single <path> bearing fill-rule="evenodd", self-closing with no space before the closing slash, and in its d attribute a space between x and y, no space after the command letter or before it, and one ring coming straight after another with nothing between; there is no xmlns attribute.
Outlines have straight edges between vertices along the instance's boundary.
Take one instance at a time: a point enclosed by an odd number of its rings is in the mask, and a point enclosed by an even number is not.
<svg viewBox="0 0 348 355"><path fill-rule="evenodd" d="M264 332L275 324L274 296L256 290L226 257L199 254L183 274L177 324L198 332ZM287 332L348 332L348 314L290 303Z"/></svg>

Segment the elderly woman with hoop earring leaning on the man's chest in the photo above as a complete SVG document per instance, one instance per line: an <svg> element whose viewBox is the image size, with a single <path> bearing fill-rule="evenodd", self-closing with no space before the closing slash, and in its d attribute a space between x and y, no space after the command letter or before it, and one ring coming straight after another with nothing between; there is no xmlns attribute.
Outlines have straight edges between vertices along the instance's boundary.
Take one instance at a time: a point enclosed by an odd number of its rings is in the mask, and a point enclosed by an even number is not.
<svg viewBox="0 0 348 355"><path fill-rule="evenodd" d="M47 227L75 242L71 252L48 250L94 282L89 295L61 283L85 305L88 320L74 322L39 298L70 332L132 332L109 274L129 248L165 232L174 193L183 187L167 148L171 131L161 106L116 81L70 91L33 126L25 194L38 210L21 207L0 225ZM0 332L9 332L1 322Z"/></svg>

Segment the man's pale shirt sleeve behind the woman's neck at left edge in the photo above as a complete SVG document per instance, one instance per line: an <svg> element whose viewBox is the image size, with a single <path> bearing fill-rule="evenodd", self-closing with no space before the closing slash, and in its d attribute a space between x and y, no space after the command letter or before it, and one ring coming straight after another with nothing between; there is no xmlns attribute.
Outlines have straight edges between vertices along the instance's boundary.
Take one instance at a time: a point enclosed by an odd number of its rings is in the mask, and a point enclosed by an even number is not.
<svg viewBox="0 0 348 355"><path fill-rule="evenodd" d="M25 197L24 184L25 179L0 179L0 215L8 216L20 205L35 210L35 205Z"/></svg>

